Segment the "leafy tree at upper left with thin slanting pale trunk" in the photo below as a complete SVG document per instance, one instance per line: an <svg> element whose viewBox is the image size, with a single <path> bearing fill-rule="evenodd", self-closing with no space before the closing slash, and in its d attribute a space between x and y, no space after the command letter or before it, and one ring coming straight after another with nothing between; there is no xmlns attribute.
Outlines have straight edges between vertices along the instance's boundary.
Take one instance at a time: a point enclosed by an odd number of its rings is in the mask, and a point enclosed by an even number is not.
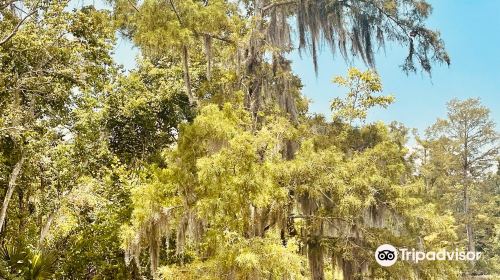
<svg viewBox="0 0 500 280"><path fill-rule="evenodd" d="M9 153L17 160L2 205L0 230L23 163L31 156L29 152L38 152L28 151L30 141L43 139L44 133L63 125L68 117L71 90L105 79L100 74L111 63L102 50L110 50L110 41L103 37L112 35L109 28L99 26L106 14L93 8L70 14L63 12L60 4L44 9L40 21L28 20L26 27L17 30L16 36L2 46L1 133L4 141L12 143ZM92 28L101 32L93 32Z"/></svg>

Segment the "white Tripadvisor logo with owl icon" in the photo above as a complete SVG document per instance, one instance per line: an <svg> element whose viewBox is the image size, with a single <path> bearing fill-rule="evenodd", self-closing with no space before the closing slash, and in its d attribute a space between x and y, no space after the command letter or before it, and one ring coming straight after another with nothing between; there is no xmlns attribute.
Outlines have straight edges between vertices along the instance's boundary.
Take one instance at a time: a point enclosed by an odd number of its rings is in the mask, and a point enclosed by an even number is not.
<svg viewBox="0 0 500 280"><path fill-rule="evenodd" d="M375 251L375 260L381 266L392 266L399 259L418 263L420 261L477 261L481 258L481 252L455 251L417 251L415 249L396 249L390 244L380 245Z"/></svg>

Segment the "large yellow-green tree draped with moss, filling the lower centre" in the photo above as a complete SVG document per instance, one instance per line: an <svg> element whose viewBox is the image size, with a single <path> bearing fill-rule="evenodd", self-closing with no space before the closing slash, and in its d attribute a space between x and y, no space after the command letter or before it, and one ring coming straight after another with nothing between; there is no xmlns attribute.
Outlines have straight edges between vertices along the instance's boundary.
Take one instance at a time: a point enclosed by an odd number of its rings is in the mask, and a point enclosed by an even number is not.
<svg viewBox="0 0 500 280"><path fill-rule="evenodd" d="M134 210L122 228L130 265L148 264L164 279L386 277L370 252L388 236L429 250L454 240L453 218L420 199L406 130L344 124L328 134L271 116L255 130L242 102L204 107L179 130L166 167L132 182ZM282 156L289 139L299 143L293 159ZM459 268L436 263L418 273L458 277Z"/></svg>

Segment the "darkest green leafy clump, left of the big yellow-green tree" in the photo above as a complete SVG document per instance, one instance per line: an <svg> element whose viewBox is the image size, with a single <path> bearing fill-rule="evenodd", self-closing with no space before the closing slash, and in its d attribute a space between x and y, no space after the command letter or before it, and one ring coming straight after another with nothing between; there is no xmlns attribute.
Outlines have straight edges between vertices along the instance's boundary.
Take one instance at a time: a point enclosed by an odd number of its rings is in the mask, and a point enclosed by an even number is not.
<svg viewBox="0 0 500 280"><path fill-rule="evenodd" d="M158 157L162 148L175 141L177 125L192 118L178 82L180 73L144 62L113 85L102 121L109 131L109 147L120 159Z"/></svg>

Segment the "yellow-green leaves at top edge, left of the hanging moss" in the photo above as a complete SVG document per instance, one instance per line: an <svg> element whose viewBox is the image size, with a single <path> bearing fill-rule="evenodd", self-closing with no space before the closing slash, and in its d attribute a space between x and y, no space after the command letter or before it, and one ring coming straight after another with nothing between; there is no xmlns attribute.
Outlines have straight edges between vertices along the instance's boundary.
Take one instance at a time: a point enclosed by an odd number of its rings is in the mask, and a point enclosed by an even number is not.
<svg viewBox="0 0 500 280"><path fill-rule="evenodd" d="M193 0L146 0L131 9L130 1L117 1L119 24L130 30L134 41L150 54L180 51L201 44L202 36L225 36L234 7L226 1L204 4Z"/></svg>

